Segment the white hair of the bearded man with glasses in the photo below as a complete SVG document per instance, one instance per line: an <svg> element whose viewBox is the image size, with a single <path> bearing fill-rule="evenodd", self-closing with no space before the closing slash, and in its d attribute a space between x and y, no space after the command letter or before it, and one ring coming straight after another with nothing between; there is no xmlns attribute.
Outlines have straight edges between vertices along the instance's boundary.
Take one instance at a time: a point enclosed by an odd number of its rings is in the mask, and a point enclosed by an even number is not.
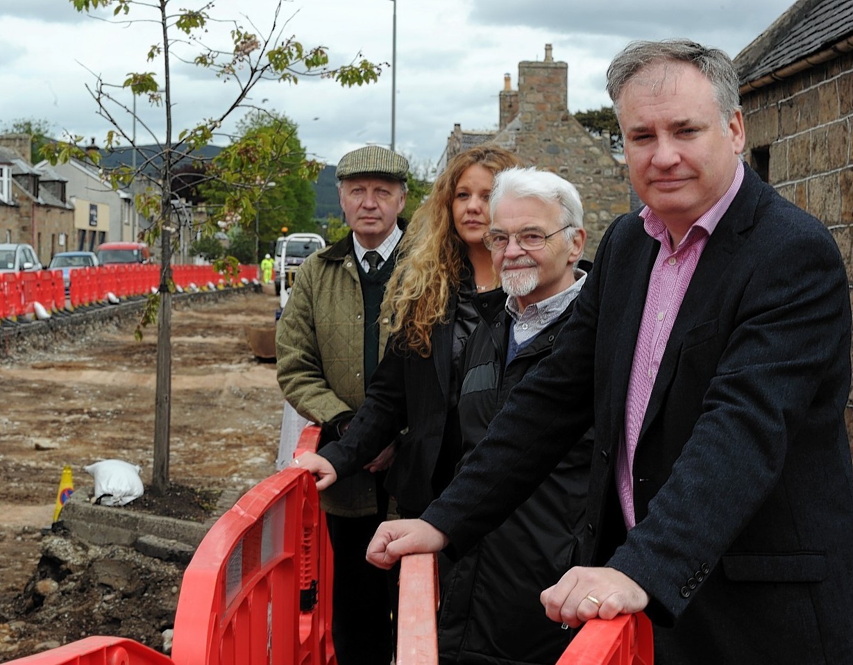
<svg viewBox="0 0 853 665"><path fill-rule="evenodd" d="M560 206L560 226L566 242L572 242L577 229L583 229L583 204L575 186L556 173L539 171L535 166L514 166L497 173L491 185L489 212L494 225L495 210L506 197L533 198Z"/></svg>

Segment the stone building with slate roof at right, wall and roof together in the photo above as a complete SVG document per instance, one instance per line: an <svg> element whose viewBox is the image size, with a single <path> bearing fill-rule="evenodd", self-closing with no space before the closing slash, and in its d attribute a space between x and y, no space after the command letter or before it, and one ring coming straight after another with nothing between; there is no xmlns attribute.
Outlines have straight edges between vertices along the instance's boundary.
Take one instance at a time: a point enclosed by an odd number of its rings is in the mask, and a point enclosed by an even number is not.
<svg viewBox="0 0 853 665"><path fill-rule="evenodd" d="M827 225L853 283L853 0L799 0L734 64L747 163Z"/></svg>

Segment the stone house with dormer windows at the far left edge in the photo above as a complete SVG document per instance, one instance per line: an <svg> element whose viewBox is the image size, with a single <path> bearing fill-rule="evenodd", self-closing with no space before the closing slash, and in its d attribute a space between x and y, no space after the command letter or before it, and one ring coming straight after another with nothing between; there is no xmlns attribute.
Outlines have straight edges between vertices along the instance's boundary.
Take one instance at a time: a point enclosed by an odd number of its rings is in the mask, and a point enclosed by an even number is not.
<svg viewBox="0 0 853 665"><path fill-rule="evenodd" d="M26 242L48 265L53 254L70 248L73 213L65 182L32 166L30 136L0 137L0 242Z"/></svg>

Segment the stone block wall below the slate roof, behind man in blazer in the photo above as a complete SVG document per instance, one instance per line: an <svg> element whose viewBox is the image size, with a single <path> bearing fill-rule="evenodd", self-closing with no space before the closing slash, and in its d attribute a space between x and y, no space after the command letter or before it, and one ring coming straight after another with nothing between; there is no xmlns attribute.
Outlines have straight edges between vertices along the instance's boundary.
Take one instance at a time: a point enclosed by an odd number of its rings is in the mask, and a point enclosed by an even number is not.
<svg viewBox="0 0 853 665"><path fill-rule="evenodd" d="M853 284L853 54L743 93L741 104L746 160L827 225ZM853 399L846 415L853 440Z"/></svg>

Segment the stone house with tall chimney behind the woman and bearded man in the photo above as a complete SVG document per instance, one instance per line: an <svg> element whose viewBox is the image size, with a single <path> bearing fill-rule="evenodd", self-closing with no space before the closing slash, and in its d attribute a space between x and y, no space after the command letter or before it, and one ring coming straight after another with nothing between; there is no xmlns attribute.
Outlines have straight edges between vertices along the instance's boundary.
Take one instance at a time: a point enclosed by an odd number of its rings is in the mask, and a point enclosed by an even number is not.
<svg viewBox="0 0 853 665"><path fill-rule="evenodd" d="M628 172L611 154L610 137L590 136L568 110L568 65L554 61L551 44L543 61L519 62L518 90L504 76L497 131L463 131L455 125L439 160L479 143L497 143L522 160L566 178L583 201L587 258L595 257L601 236L613 219L630 212Z"/></svg>

